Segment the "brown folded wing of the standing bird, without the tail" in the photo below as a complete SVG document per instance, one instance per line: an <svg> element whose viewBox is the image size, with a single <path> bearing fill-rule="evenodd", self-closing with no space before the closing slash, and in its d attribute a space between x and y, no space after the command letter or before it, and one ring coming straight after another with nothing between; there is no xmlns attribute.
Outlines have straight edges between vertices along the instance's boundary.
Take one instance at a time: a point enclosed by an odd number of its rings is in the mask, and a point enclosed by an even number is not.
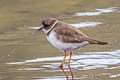
<svg viewBox="0 0 120 80"><path fill-rule="evenodd" d="M58 33L57 38L63 42L81 43L87 38L80 30L67 23L61 22L55 28L57 28L55 32Z"/></svg>

